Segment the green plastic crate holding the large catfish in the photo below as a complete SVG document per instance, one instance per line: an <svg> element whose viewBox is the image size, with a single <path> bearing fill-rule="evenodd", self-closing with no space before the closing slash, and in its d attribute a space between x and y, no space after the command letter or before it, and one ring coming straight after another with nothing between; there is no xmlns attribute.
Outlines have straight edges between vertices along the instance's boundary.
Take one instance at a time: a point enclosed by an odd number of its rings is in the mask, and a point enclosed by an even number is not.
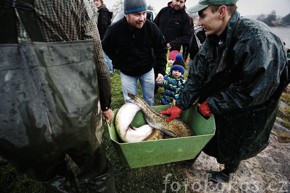
<svg viewBox="0 0 290 193"><path fill-rule="evenodd" d="M215 134L215 119L213 114L208 120L198 112L199 104L183 111L180 119L190 125L196 136L159 139L123 143L118 137L115 126L115 116L119 109L114 110L113 123L108 125L111 141L117 151L120 161L129 168L143 167L193 159ZM166 110L170 105L152 106L157 112ZM131 125L140 127L147 124L139 111Z"/></svg>

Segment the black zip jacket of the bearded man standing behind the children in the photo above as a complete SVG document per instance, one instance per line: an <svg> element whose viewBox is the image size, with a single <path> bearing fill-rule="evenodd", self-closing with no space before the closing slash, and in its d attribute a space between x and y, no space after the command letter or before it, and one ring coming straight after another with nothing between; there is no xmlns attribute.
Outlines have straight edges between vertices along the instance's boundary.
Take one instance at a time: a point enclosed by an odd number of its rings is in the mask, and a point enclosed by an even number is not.
<svg viewBox="0 0 290 193"><path fill-rule="evenodd" d="M171 3L160 10L154 23L161 30L166 42L170 43L171 50L180 51L181 45L187 43L191 37L190 17L185 12L185 6L176 11Z"/></svg>

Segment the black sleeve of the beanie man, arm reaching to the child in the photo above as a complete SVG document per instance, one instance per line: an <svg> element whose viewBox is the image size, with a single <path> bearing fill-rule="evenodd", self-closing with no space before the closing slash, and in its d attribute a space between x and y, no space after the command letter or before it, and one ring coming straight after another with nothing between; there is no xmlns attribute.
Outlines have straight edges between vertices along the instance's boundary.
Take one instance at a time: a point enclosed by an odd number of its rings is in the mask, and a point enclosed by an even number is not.
<svg viewBox="0 0 290 193"><path fill-rule="evenodd" d="M152 34L152 39L153 39L154 55L156 56L157 63L154 70L157 70L158 73L164 76L167 64L166 59L167 45L161 31L159 30L159 28L157 28L157 26L155 26L154 34Z"/></svg>

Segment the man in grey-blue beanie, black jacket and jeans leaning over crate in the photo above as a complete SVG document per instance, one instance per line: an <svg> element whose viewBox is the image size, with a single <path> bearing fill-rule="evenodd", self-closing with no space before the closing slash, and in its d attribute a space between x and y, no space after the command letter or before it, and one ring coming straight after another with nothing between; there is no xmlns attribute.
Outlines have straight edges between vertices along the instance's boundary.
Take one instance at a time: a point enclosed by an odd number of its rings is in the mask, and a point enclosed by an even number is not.
<svg viewBox="0 0 290 193"><path fill-rule="evenodd" d="M162 79L166 66L166 41L157 26L146 19L145 0L125 0L124 18L109 26L102 47L121 71L122 89L126 103L134 103L127 92L137 95L139 79L143 99L154 106L154 70L152 48L157 59L157 79Z"/></svg>

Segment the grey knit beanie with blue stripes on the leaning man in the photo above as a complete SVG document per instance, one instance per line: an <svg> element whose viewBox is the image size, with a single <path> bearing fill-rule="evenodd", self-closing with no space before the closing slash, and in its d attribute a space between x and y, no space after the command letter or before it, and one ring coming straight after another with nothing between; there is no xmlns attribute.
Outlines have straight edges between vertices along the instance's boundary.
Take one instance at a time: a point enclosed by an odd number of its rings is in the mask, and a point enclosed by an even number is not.
<svg viewBox="0 0 290 193"><path fill-rule="evenodd" d="M145 0L124 0L124 13L138 13L147 10Z"/></svg>

